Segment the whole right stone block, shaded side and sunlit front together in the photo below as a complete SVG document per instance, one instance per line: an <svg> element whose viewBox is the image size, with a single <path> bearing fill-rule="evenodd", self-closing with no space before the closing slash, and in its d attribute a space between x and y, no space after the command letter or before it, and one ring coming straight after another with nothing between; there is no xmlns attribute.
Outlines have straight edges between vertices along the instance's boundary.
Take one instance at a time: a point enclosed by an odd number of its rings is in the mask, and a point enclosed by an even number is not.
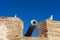
<svg viewBox="0 0 60 40"><path fill-rule="evenodd" d="M38 37L46 37L48 40L60 40L60 21L47 19L40 22L37 28Z"/></svg>

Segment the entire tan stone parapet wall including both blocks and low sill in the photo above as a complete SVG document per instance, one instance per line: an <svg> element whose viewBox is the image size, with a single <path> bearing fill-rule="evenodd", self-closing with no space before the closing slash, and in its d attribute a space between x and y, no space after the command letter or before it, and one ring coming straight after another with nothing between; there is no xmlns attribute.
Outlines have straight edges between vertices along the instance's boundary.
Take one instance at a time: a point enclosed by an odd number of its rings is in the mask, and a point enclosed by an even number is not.
<svg viewBox="0 0 60 40"><path fill-rule="evenodd" d="M38 37L23 36L23 21L0 17L0 40L60 40L60 21L45 20L38 24Z"/></svg>

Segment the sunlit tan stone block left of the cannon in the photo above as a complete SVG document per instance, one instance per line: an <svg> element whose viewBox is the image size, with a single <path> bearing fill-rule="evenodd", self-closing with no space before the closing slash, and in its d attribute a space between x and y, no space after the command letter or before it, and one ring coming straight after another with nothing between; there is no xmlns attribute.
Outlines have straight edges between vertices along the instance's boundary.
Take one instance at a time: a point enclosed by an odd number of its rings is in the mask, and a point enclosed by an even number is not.
<svg viewBox="0 0 60 40"><path fill-rule="evenodd" d="M19 18L0 17L0 40L20 40L23 22Z"/></svg>

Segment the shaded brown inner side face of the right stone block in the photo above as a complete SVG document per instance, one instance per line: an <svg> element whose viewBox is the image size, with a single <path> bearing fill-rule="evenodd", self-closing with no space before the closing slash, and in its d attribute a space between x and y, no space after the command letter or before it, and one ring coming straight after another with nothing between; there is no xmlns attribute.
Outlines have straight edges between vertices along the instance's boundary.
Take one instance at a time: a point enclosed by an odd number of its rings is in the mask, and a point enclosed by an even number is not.
<svg viewBox="0 0 60 40"><path fill-rule="evenodd" d="M38 37L47 37L47 22L40 22L37 26L38 28Z"/></svg>

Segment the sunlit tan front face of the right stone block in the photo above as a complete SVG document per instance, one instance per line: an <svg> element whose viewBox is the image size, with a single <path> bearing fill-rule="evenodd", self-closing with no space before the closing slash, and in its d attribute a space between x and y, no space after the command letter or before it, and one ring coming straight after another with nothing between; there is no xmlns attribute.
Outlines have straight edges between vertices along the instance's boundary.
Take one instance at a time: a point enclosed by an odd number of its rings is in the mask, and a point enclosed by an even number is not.
<svg viewBox="0 0 60 40"><path fill-rule="evenodd" d="M60 40L60 21L47 20L48 38Z"/></svg>

